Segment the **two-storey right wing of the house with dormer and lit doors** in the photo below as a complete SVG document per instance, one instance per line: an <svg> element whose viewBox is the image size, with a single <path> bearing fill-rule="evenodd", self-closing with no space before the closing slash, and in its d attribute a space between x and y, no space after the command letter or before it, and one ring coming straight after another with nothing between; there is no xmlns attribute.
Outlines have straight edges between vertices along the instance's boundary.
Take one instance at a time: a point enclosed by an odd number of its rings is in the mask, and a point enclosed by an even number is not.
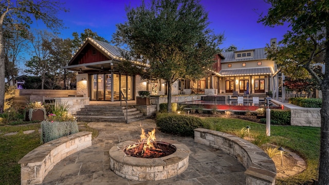
<svg viewBox="0 0 329 185"><path fill-rule="evenodd" d="M277 40L272 38L270 42L276 44ZM222 56L218 72L221 76L219 93L265 94L278 91L280 70L275 61L267 59L265 48L223 52Z"/></svg>

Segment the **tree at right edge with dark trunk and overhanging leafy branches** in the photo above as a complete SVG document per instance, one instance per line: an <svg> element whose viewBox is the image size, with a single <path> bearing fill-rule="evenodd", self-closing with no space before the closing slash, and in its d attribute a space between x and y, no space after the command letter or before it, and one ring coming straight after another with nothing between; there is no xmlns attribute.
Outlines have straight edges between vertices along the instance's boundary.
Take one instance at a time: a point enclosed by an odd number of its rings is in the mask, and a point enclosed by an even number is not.
<svg viewBox="0 0 329 185"><path fill-rule="evenodd" d="M319 184L329 184L329 2L328 1L277 1L259 22L266 26L290 24L278 48L268 47L268 56L281 65L283 72L306 69L322 90L321 140ZM324 64L324 74L319 76L312 68ZM291 73L290 73L291 74Z"/></svg>

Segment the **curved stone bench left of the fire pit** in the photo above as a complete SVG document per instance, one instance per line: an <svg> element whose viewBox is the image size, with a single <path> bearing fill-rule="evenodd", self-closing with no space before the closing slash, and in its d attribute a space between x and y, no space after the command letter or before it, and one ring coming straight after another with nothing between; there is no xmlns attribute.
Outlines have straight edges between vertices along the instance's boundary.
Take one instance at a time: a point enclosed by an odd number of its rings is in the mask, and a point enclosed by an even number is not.
<svg viewBox="0 0 329 185"><path fill-rule="evenodd" d="M44 143L19 161L21 184L42 183L58 162L89 146L92 146L92 132L78 132Z"/></svg>

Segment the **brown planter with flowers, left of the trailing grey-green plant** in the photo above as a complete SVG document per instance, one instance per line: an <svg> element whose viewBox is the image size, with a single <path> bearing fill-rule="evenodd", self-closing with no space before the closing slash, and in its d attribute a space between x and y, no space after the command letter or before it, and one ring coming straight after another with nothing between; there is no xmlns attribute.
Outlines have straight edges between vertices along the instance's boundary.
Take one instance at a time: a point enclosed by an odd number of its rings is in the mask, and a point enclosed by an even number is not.
<svg viewBox="0 0 329 185"><path fill-rule="evenodd" d="M45 120L46 119L46 109L39 101L30 102L27 105L27 111L25 113L26 121L34 120Z"/></svg>

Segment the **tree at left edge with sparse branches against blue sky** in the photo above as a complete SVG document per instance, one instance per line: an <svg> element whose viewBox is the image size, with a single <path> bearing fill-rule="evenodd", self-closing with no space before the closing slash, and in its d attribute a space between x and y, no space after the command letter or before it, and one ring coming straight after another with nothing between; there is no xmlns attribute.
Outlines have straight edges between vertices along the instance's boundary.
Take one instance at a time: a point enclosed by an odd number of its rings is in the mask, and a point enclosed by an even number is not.
<svg viewBox="0 0 329 185"><path fill-rule="evenodd" d="M4 21L11 19L12 23L32 24L32 17L41 19L48 28L63 28L62 20L56 17L59 11L66 11L62 3L56 0L7 0L0 3L0 113L3 113L5 102L5 52L4 52Z"/></svg>

